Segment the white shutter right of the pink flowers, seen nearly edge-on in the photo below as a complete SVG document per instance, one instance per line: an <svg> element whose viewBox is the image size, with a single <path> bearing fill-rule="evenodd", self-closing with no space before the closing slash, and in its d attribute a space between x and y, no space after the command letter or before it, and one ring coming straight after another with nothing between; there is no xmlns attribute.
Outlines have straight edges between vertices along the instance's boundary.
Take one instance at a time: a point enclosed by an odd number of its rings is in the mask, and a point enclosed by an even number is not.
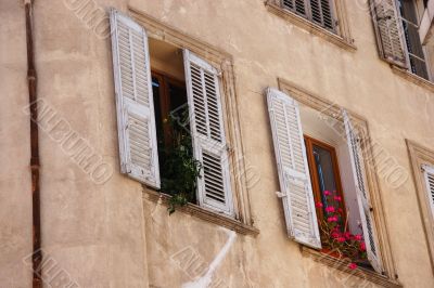
<svg viewBox="0 0 434 288"><path fill-rule="evenodd" d="M380 252L376 245L375 225L373 222L372 207L369 201L369 192L366 185L365 165L360 150L360 139L354 129L352 121L345 110L342 112L345 123L346 141L349 149L354 183L356 184L357 202L359 207L363 239L367 247L368 260L372 267L382 273Z"/></svg>

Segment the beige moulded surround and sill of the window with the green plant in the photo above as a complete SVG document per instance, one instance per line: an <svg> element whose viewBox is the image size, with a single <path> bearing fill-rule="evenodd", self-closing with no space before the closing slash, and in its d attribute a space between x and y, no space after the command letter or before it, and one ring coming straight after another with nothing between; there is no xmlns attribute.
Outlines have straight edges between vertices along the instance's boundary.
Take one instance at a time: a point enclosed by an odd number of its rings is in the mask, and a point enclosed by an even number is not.
<svg viewBox="0 0 434 288"><path fill-rule="evenodd" d="M238 97L235 92L235 77L233 71L233 57L226 51L210 45L197 38L167 25L142 11L128 5L128 14L137 23L146 29L148 36L157 40L165 41L179 49L188 49L199 57L208 62L219 71L219 84L221 96L221 108L224 116L224 129L229 152L229 167L232 174L231 186L233 195L234 219L206 210L196 205L188 205L186 209L179 209L193 214L204 221L226 226L239 233L257 235L259 231L253 226L254 219L251 211L248 189L251 183L245 174L246 165L241 140L241 126L239 122ZM170 198L143 187L143 198L152 201L167 202ZM155 197L158 195L158 197Z"/></svg>

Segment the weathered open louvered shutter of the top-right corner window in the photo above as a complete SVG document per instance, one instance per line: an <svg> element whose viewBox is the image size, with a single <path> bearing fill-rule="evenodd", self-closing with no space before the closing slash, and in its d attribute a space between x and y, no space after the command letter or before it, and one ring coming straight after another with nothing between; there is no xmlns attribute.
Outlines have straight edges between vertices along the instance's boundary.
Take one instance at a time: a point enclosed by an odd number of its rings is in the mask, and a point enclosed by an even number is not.
<svg viewBox="0 0 434 288"><path fill-rule="evenodd" d="M403 25L395 0L370 0L370 6L380 56L391 64L407 68Z"/></svg>

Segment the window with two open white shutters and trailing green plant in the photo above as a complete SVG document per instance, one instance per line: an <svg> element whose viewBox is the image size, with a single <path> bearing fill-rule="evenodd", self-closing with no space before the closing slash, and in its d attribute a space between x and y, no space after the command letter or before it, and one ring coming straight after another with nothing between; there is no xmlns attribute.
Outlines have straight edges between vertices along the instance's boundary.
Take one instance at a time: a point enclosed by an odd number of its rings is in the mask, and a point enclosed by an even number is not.
<svg viewBox="0 0 434 288"><path fill-rule="evenodd" d="M203 168L190 200L234 218L220 71L188 49L149 38L115 10L111 25L122 172L162 187L161 180L170 176L169 154L163 152L175 139L167 125L173 117L181 136L191 139L183 147L191 147Z"/></svg>

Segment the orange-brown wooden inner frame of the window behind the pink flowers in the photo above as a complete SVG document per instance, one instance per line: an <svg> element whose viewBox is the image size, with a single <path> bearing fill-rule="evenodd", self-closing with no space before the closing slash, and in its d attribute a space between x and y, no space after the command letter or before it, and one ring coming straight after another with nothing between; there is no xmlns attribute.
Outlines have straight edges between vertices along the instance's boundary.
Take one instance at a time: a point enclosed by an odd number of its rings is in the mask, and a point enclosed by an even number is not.
<svg viewBox="0 0 434 288"><path fill-rule="evenodd" d="M340 205L340 208L342 208L342 210L344 211L344 213L342 214L342 220L344 223L346 223L345 197L344 197L344 192L342 188L342 181L341 181L341 173L340 173L340 169L339 169L336 148L333 147L332 145L329 145L324 142L321 142L321 141L314 139L311 136L308 136L308 135L304 135L304 139L305 139L306 156L307 156L307 162L309 166L310 181L312 184L315 202L317 204L317 202L321 201L321 188L319 186L318 169L317 169L317 165L316 165L315 158L314 158L314 145L328 150L331 155L332 166L333 166L333 175L334 175L334 180L335 180L335 184L336 184L336 194L339 196L341 196L341 198L342 198L342 201ZM317 211L318 210L319 210L319 213L317 213L317 218L318 218L318 222L320 222L321 220L324 220L324 212L322 209L317 209Z"/></svg>

